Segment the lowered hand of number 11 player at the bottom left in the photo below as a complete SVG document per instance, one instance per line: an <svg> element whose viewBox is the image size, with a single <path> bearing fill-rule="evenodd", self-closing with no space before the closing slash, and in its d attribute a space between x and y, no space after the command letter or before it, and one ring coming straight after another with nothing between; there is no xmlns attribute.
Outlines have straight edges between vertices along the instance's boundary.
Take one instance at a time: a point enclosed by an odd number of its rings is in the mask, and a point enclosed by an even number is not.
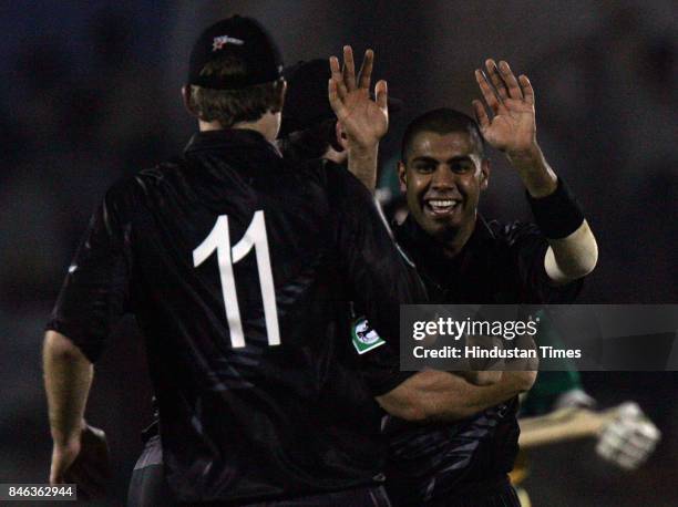
<svg viewBox="0 0 678 507"><path fill-rule="evenodd" d="M80 441L68 445L54 444L50 484L78 485L79 498L102 496L111 475L109 445L102 430L86 425Z"/></svg>

